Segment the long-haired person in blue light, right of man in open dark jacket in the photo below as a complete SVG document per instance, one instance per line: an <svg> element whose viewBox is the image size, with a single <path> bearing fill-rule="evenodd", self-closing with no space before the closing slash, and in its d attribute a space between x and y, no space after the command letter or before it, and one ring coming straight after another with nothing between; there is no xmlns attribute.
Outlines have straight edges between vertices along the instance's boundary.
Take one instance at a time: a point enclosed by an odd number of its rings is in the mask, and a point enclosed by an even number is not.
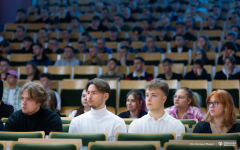
<svg viewBox="0 0 240 150"><path fill-rule="evenodd" d="M203 49L205 52L216 52L216 47L210 43L206 34L199 37L195 51L198 49Z"/></svg>

